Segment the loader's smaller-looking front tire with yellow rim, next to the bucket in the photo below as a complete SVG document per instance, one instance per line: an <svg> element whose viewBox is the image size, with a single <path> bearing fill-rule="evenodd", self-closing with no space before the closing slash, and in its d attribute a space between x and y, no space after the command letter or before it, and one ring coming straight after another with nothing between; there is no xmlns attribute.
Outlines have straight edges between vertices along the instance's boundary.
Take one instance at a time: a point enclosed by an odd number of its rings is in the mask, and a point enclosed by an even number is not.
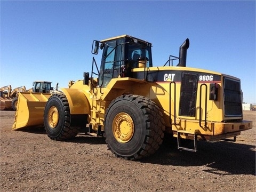
<svg viewBox="0 0 256 192"><path fill-rule="evenodd" d="M70 127L71 115L65 94L54 94L46 102L44 127L49 138L65 140L77 135L78 129Z"/></svg>

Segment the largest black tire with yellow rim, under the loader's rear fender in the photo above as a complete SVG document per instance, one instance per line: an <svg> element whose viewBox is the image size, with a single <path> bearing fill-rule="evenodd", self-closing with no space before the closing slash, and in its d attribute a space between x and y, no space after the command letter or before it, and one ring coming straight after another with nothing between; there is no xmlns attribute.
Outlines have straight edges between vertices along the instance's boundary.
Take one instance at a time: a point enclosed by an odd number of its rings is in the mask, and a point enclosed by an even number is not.
<svg viewBox="0 0 256 192"><path fill-rule="evenodd" d="M134 160L154 154L163 142L164 121L155 102L140 95L113 100L105 116L105 138L117 157Z"/></svg>

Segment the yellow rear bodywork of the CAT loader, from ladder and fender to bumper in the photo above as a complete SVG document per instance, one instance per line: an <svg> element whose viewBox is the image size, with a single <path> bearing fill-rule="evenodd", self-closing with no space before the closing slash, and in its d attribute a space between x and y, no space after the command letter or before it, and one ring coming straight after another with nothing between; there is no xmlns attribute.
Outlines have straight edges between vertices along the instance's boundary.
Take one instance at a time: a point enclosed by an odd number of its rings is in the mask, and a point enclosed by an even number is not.
<svg viewBox="0 0 256 192"><path fill-rule="evenodd" d="M142 70L142 69L135 69L135 70ZM80 86L82 82L80 82ZM221 84L221 83L220 83ZM198 87L201 84L198 84ZM77 85L78 86L78 85ZM209 86L208 86L209 87ZM147 82L143 79L135 79L130 77L124 78L114 78L111 79L107 87L102 88L100 93L100 88L95 87L93 94L92 90L87 91L87 97L89 97L89 102L91 108L90 119L91 123L93 124L93 130L98 129L98 125L101 125L101 129L103 130L103 122L104 122L104 114L105 110L108 108L109 103L117 98L119 95L122 94L138 94L143 95L145 97L150 98L154 102L156 102L157 106L161 108L162 114L165 121L166 131L167 132L175 132L177 130L186 131L190 134L194 134L195 131L198 131L199 134L202 135L209 135L216 137L218 135L219 138L226 138L226 137L233 137L233 135L240 134L241 131L251 129L252 123L241 121L241 122L234 122L234 123L222 123L224 121L223 117L223 103L221 101L208 101L207 102L207 126L204 127L204 113L205 113L205 103L202 102L202 114L201 114L201 126L199 126L199 105L197 104L196 108L196 116L195 117L188 117L188 116L179 116L179 98L180 98L180 83L176 85L176 97L177 101L174 104L174 91L173 85L171 85L170 90L170 82ZM219 89L221 90L221 89ZM202 89L203 93L205 87ZM209 90L207 90L209 93ZM219 93L221 94L221 93ZM94 96L93 96L94 95ZM171 95L171 103L170 103L170 95ZM199 89L198 93L199 95ZM204 94L203 101L204 101ZM94 98L94 99L93 99ZM100 102L101 101L101 102ZM93 104L94 103L94 104ZM95 104L97 103L97 104ZM199 97L197 97L197 102L199 103ZM170 113L170 105L171 105L171 113ZM174 105L176 105L176 116L174 117ZM94 106L94 107L93 107ZM98 111L98 113L94 113ZM92 121L92 119L94 119ZM96 120L98 119L98 120ZM176 120L177 124L173 125L174 119ZM231 118L230 118L231 119ZM230 134L234 133L234 134Z"/></svg>

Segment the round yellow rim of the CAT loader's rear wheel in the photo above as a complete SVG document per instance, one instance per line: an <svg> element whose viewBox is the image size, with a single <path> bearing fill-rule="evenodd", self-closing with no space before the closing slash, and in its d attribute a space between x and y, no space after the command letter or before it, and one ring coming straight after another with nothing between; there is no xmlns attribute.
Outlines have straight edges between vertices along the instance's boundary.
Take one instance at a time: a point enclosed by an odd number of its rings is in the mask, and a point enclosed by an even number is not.
<svg viewBox="0 0 256 192"><path fill-rule="evenodd" d="M114 118L112 124L114 137L121 143L129 142L134 133L134 125L130 115L119 113Z"/></svg>

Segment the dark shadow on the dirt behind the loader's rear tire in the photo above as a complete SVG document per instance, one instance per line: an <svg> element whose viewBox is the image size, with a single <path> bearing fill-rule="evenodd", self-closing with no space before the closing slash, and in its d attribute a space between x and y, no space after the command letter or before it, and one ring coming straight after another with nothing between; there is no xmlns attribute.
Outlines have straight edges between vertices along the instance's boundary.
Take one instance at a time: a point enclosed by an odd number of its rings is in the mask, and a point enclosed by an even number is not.
<svg viewBox="0 0 256 192"><path fill-rule="evenodd" d="M178 150L177 146L177 139L165 140L154 155L140 162L172 166L206 165L204 171L213 174L255 175L255 146L220 140L201 141L198 142L197 153Z"/></svg>

